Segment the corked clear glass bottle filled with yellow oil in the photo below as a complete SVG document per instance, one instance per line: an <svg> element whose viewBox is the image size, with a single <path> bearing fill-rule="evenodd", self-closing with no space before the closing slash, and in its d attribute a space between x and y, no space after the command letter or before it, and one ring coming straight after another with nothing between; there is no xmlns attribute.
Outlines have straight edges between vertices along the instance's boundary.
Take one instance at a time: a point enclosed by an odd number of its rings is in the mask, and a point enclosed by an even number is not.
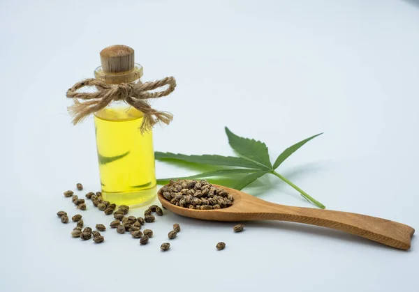
<svg viewBox="0 0 419 292"><path fill-rule="evenodd" d="M94 75L108 84L141 82L142 66L130 47L116 45L101 52ZM94 114L96 148L103 199L139 206L156 196L152 130L142 134L143 115L124 101Z"/></svg>

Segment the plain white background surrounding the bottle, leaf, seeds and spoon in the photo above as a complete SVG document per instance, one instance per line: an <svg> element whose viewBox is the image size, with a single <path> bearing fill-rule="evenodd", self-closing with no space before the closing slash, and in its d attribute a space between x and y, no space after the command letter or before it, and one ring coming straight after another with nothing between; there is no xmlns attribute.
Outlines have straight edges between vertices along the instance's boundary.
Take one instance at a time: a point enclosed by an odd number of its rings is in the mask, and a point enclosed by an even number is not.
<svg viewBox="0 0 419 292"><path fill-rule="evenodd" d="M1 1L0 291L418 291L416 236L404 252L314 226L233 233L166 212L149 245L115 230L94 245L55 215L76 213L62 196L75 183L99 188L92 120L71 125L66 90L124 44L144 81L177 79L153 104L175 114L154 131L156 151L233 155L228 126L274 160L325 132L278 171L331 210L417 228L418 31L415 0ZM156 162L160 178L195 173ZM274 176L244 191L312 206ZM82 214L110 222L90 202ZM182 232L160 252L175 222Z"/></svg>

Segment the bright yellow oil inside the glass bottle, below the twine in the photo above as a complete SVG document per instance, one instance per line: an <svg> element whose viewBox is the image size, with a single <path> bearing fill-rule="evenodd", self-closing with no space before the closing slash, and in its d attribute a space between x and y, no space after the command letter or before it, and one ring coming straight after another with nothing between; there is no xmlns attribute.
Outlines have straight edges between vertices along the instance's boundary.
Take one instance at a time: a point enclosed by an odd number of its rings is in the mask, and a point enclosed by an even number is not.
<svg viewBox="0 0 419 292"><path fill-rule="evenodd" d="M156 196L152 132L140 132L142 118L133 107L94 115L103 198L117 205L142 205Z"/></svg>

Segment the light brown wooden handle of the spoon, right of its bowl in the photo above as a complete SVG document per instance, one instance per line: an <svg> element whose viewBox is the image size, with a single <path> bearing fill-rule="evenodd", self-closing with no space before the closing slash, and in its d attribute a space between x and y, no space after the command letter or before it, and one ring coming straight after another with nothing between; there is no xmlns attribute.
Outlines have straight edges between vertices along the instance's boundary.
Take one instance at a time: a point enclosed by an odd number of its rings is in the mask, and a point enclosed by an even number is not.
<svg viewBox="0 0 419 292"><path fill-rule="evenodd" d="M368 215L276 204L270 204L270 209L272 212L268 211L264 215L260 214L260 219L283 220L328 227L398 249L409 249L411 237L415 232L415 229L411 226Z"/></svg>

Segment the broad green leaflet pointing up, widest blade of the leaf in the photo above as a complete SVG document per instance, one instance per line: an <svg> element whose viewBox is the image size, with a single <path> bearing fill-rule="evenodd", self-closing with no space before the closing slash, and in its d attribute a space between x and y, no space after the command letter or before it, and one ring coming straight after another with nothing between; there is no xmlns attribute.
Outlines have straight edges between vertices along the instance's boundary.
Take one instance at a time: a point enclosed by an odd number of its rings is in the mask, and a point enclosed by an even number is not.
<svg viewBox="0 0 419 292"><path fill-rule="evenodd" d="M265 169L272 169L269 152L267 151L265 143L256 141L255 139L237 136L227 127L226 134L228 143L238 154L242 155L247 160L260 164L261 167L263 166Z"/></svg>

